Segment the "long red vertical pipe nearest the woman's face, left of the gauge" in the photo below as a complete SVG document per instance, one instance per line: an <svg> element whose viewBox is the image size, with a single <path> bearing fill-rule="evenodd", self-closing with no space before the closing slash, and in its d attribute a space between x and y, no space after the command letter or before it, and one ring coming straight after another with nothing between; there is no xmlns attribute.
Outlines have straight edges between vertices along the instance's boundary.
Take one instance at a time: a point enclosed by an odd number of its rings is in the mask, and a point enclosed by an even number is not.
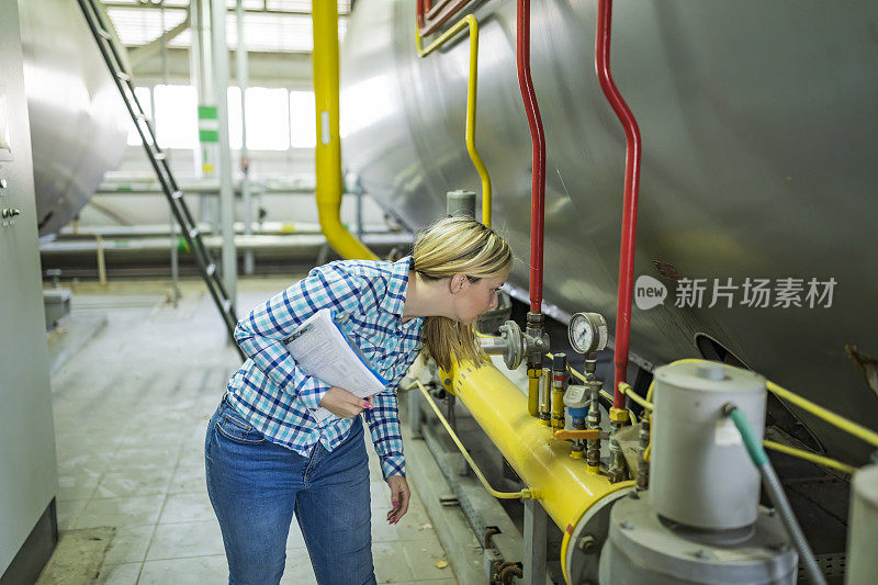
<svg viewBox="0 0 878 585"><path fill-rule="evenodd" d="M545 135L540 120L540 106L530 79L530 0L518 0L518 30L516 34L516 65L518 87L530 125L533 153L530 181L530 311L542 311L542 248L543 207L545 205Z"/></svg>

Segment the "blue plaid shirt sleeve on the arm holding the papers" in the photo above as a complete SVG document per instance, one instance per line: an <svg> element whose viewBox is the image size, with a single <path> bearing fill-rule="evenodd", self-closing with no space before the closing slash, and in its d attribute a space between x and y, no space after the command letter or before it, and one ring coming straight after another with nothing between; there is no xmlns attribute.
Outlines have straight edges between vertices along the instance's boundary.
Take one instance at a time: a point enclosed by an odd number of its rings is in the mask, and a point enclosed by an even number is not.
<svg viewBox="0 0 878 585"><path fill-rule="evenodd" d="M329 385L308 375L295 363L284 341L308 317L322 308L339 312L360 310L361 278L327 265L311 271L268 302L257 306L235 327L235 342L283 392L309 408L316 408Z"/></svg>

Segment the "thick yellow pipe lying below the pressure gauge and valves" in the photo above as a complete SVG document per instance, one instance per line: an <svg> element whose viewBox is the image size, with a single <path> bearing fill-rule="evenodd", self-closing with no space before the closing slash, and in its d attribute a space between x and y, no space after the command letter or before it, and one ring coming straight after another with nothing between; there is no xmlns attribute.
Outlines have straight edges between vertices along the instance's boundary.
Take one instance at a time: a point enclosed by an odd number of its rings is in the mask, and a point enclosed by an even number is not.
<svg viewBox="0 0 878 585"><path fill-rule="evenodd" d="M571 459L570 445L551 437L528 414L527 396L491 362L452 368L443 379L476 423L499 449L519 477L539 494L540 504L564 531L572 532L583 514L607 494L633 482L610 484L589 473L583 461Z"/></svg>

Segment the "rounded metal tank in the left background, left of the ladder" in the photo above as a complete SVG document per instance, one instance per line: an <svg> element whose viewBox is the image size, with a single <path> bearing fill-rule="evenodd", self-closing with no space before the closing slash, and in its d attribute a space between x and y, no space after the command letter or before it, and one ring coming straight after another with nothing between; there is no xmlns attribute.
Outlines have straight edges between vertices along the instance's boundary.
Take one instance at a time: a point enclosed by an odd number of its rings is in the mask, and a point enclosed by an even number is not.
<svg viewBox="0 0 878 585"><path fill-rule="evenodd" d="M40 236L56 234L125 153L128 113L79 4L20 0Z"/></svg>

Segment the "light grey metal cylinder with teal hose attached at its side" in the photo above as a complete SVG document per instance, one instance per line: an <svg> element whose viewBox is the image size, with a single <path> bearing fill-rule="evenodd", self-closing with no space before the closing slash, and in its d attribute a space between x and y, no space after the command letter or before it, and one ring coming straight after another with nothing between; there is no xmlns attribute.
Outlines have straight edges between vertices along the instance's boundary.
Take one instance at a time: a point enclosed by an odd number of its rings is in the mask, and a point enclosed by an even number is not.
<svg viewBox="0 0 878 585"><path fill-rule="evenodd" d="M765 379L710 361L655 370L650 477L653 509L669 520L711 530L756 521L759 473L722 407L734 403L762 441Z"/></svg>

